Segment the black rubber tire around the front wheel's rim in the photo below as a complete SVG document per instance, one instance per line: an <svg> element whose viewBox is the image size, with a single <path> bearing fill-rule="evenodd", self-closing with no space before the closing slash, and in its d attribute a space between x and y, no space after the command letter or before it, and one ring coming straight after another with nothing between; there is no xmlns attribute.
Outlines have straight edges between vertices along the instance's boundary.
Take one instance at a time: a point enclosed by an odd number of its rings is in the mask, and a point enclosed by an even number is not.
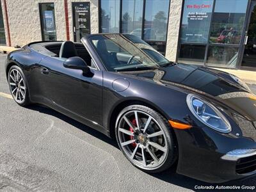
<svg viewBox="0 0 256 192"><path fill-rule="evenodd" d="M120 125L120 121L122 120L122 117L125 114L132 113L131 111L134 111L134 110L142 111L143 113L147 113L148 115L152 116L154 118L154 120L156 120L158 122L158 124L161 126L161 128L163 129L168 150L167 150L167 154L166 154L166 157L165 157L163 163L161 163L161 165L157 168L154 168L154 169L141 168L141 166L138 166L138 164L134 163L135 162L134 159L131 159L131 156L129 157L129 155L127 154L127 152L125 152L124 148L121 145L120 135L118 135L118 129L119 129L118 127ZM138 112L138 113L140 113L140 112ZM142 127L141 127L141 129L142 129ZM134 166L136 166L136 168L139 168L140 170L143 170L144 172L148 172L148 173L163 172L164 170L167 170L168 168L170 168L178 158L177 142L175 140L174 132L173 132L172 128L170 127L170 124L161 114L157 113L157 111L154 111L153 109L150 109L146 106L131 105L131 106L127 106L126 108L124 108L119 113L118 117L116 118L115 134L116 134L116 140L118 142L118 146L122 150L124 156ZM135 136L134 136L134 139L135 139ZM148 140L148 138L147 138L147 140ZM136 140L136 141L138 142L138 140ZM132 144L132 145L134 145L134 144ZM148 152L148 150L146 150L146 152Z"/></svg>

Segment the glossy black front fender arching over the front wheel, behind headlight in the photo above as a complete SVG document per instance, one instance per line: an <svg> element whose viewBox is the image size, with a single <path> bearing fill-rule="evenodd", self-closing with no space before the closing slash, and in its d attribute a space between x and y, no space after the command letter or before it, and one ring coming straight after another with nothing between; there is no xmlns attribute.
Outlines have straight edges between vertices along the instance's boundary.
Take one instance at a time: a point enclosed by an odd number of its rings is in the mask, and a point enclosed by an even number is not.
<svg viewBox="0 0 256 192"><path fill-rule="evenodd" d="M186 105L188 92L177 87L170 88L170 86L157 84L154 81L136 79L124 74L104 72L103 76L102 124L104 127L108 127L108 130L113 111L120 106L122 108L122 104L125 105L127 102L142 102L156 109L166 119L189 124L189 118L186 117L190 113ZM129 87L118 92L113 88L113 81L122 78L129 81Z"/></svg>

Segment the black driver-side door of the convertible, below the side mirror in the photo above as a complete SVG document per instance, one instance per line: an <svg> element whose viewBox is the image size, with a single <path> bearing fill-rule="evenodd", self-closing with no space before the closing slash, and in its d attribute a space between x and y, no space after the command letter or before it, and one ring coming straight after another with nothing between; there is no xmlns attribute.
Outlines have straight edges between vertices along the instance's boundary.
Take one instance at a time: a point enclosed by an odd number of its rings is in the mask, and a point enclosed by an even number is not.
<svg viewBox="0 0 256 192"><path fill-rule="evenodd" d="M40 62L46 99L68 116L102 125L102 71L90 68L84 75L82 70L65 68L63 62L54 57Z"/></svg>

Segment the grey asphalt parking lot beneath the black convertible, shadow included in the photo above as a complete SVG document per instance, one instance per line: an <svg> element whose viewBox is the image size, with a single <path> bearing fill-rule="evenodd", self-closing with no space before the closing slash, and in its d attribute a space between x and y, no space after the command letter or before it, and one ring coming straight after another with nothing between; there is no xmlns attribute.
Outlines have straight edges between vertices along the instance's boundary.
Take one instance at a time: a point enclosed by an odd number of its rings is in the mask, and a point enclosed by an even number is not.
<svg viewBox="0 0 256 192"><path fill-rule="evenodd" d="M134 168L115 141L42 106L10 98L0 54L0 191L189 191L211 186L170 169ZM249 84L256 93L256 84ZM255 186L256 177L219 186ZM233 191L233 190L230 190Z"/></svg>

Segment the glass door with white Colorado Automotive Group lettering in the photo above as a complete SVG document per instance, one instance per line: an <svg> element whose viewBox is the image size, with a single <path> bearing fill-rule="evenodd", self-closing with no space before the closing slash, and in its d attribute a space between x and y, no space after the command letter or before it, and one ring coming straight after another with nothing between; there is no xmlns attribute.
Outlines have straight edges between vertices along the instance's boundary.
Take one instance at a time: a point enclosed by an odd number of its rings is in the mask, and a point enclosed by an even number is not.
<svg viewBox="0 0 256 192"><path fill-rule="evenodd" d="M90 30L90 2L72 3L74 42L91 33Z"/></svg>

